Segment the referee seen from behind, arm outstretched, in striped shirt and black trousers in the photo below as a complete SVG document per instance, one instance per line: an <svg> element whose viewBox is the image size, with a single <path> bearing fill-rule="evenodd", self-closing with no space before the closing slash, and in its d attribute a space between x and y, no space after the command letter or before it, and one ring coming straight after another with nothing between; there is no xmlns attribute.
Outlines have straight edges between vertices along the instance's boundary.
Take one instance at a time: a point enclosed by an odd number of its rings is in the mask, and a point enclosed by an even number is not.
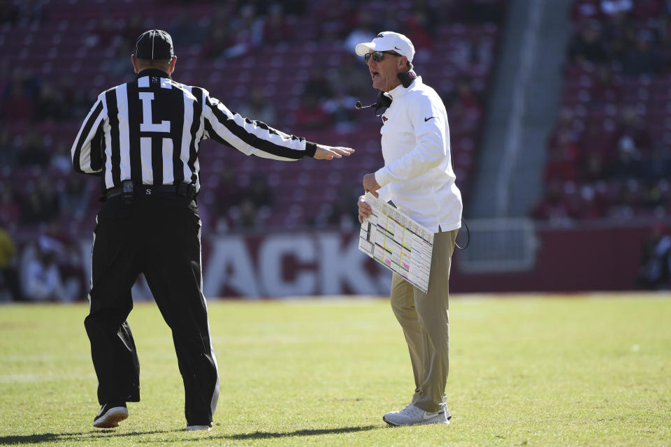
<svg viewBox="0 0 671 447"><path fill-rule="evenodd" d="M219 397L217 360L201 277L199 143L212 138L247 155L331 160L353 149L287 135L231 112L200 87L175 82L171 36L138 37L136 80L103 91L72 146L78 173L99 175L103 205L92 250L85 319L101 409L94 427L117 427L140 400L140 366L126 321L131 287L145 274L173 332L187 430L210 430Z"/></svg>

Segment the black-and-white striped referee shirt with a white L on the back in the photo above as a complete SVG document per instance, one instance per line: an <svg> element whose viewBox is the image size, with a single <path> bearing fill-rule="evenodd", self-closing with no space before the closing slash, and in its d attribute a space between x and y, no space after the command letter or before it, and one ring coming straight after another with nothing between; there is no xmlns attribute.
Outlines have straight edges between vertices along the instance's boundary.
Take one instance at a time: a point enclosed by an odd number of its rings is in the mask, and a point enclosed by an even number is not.
<svg viewBox="0 0 671 447"><path fill-rule="evenodd" d="M317 145L234 114L207 90L143 70L133 82L98 96L72 146L78 173L101 175L103 188L135 184L196 185L199 143L212 138L247 155L298 160Z"/></svg>

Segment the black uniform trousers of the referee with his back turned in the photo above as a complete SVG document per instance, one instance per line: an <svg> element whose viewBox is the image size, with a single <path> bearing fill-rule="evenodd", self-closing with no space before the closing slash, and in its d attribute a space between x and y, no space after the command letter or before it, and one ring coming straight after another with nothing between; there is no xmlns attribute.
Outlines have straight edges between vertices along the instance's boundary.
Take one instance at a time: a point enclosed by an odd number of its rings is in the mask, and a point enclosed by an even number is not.
<svg viewBox="0 0 671 447"><path fill-rule="evenodd" d="M196 202L177 194L121 196L103 203L94 230L90 312L85 319L100 404L140 400L140 365L131 328L131 287L145 275L173 333L185 388L187 425L208 425L219 397L201 281Z"/></svg>

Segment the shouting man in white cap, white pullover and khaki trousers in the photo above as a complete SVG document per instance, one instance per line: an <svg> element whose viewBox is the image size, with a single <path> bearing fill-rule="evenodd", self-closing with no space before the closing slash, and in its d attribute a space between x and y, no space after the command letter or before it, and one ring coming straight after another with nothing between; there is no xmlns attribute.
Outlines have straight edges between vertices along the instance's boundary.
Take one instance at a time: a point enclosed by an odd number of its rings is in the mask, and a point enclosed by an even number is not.
<svg viewBox="0 0 671 447"><path fill-rule="evenodd" d="M391 308L401 323L414 374L414 395L400 411L383 416L389 425L448 424L445 404L449 365L448 279L456 233L461 227L461 192L450 162L447 112L440 96L412 70L414 46L403 34L383 31L356 45L373 87L381 91L384 167L363 176L363 189L432 230L428 291L399 274L391 281ZM370 216L359 198L359 221Z"/></svg>

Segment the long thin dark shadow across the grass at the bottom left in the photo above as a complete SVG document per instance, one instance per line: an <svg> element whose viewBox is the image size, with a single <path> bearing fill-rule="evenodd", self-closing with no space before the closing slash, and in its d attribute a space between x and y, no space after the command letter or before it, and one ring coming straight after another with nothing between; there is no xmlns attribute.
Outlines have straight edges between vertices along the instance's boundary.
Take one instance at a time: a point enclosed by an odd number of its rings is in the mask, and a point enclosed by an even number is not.
<svg viewBox="0 0 671 447"><path fill-rule="evenodd" d="M242 434L229 434L222 436L212 436L205 438L193 438L193 439L182 439L181 441L203 441L203 439L272 439L272 438L284 438L292 436L314 436L319 434L338 434L338 433L354 433L354 432L363 432L366 430L373 430L375 425L366 425L364 427L340 427L340 428L321 428L314 430L296 430L295 432L254 432L254 433L242 433ZM142 434L161 434L161 433L174 433L174 432L184 432L184 429L180 430L151 430L147 432L127 432L127 433L115 433L113 430L91 430L90 432L72 432L72 433L41 433L41 434L25 434L25 435L14 435L14 436L3 436L0 437L0 446L9 446L13 444L41 444L43 442L54 442L54 441L73 441L73 442L84 442L91 439L102 439L102 438L112 438L112 437L129 437L129 436L138 436Z"/></svg>

